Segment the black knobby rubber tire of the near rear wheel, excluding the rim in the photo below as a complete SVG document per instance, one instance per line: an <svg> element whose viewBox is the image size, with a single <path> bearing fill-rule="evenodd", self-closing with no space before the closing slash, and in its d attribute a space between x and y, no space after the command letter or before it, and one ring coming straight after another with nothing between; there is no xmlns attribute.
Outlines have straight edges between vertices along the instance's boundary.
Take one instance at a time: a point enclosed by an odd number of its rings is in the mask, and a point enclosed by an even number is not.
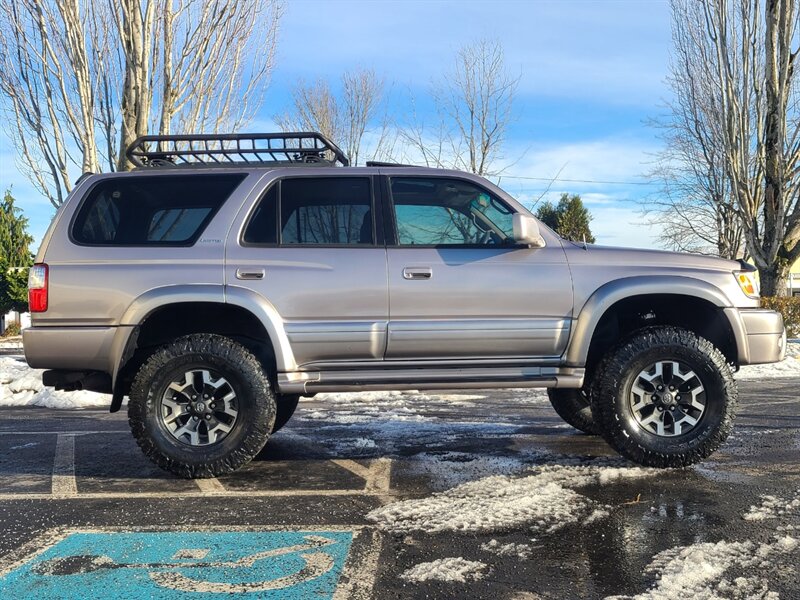
<svg viewBox="0 0 800 600"><path fill-rule="evenodd" d="M202 367L230 382L239 414L223 439L192 446L168 431L159 414L160 398L181 369ZM275 412L269 380L253 354L229 338L194 334L162 346L139 369L131 386L128 423L139 447L159 467L181 477L202 479L250 462L267 443Z"/></svg>

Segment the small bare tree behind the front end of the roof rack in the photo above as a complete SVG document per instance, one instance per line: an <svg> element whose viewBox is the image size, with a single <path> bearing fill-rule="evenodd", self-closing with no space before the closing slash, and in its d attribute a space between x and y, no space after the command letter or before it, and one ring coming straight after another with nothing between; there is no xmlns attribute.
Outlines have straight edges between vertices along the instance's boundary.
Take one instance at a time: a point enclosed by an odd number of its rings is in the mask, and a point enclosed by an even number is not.
<svg viewBox="0 0 800 600"><path fill-rule="evenodd" d="M283 131L319 131L342 146L356 165L371 127L377 131L371 154L374 157L386 151L389 127L385 111L381 116L383 99L383 80L371 69L357 69L342 75L338 94L324 79L301 81L292 90L290 109L275 120Z"/></svg>

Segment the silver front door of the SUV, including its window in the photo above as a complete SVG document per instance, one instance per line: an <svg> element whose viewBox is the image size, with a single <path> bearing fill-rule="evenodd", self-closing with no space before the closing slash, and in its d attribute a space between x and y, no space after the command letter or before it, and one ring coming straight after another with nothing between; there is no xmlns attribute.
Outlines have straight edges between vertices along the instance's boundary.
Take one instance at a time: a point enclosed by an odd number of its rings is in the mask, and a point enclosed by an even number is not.
<svg viewBox="0 0 800 600"><path fill-rule="evenodd" d="M387 359L553 358L572 281L560 243L515 246L514 209L471 181L392 176ZM387 234L389 235L389 234Z"/></svg>

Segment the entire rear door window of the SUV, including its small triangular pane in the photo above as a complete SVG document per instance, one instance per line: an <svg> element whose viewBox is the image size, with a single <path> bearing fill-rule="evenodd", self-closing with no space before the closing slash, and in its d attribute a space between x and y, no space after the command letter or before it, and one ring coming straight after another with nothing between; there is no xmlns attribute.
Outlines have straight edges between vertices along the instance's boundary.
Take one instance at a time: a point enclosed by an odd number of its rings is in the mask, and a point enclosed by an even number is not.
<svg viewBox="0 0 800 600"><path fill-rule="evenodd" d="M248 244L375 243L367 177L290 177L273 185L245 229Z"/></svg>

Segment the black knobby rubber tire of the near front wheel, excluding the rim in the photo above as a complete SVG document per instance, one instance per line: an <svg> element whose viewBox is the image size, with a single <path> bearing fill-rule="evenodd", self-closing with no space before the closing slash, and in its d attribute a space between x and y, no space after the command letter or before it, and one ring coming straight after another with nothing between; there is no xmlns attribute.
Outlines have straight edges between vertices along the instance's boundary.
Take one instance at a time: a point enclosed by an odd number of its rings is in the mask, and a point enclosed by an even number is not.
<svg viewBox="0 0 800 600"><path fill-rule="evenodd" d="M685 434L662 437L636 421L629 394L643 368L677 360L699 378L705 411ZM713 453L733 427L738 389L725 356L711 342L679 327L641 329L608 351L592 381L591 402L601 435L623 456L649 467L684 467Z"/></svg>

